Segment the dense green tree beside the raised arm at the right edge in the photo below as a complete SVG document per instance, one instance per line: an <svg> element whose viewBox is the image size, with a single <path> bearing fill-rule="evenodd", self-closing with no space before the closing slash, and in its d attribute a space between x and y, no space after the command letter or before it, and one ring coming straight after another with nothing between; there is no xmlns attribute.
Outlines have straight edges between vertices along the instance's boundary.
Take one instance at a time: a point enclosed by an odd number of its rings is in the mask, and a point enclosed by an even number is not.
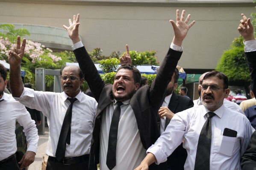
<svg viewBox="0 0 256 170"><path fill-rule="evenodd" d="M250 81L249 70L244 55L243 38L235 38L230 49L224 51L216 70L223 72L230 81Z"/></svg>

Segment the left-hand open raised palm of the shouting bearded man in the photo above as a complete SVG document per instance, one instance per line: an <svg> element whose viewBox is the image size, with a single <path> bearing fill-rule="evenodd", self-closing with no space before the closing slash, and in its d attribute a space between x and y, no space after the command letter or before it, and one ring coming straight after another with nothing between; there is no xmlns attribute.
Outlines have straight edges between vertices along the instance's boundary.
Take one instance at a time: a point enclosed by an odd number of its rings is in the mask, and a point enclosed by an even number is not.
<svg viewBox="0 0 256 170"><path fill-rule="evenodd" d="M68 20L69 21L69 27L63 25L63 27L68 31L68 36L73 41L73 44L80 41L79 34L78 34L78 27L80 25L79 17L80 17L80 14L77 14L77 16L74 15L73 16L73 23L72 23L71 19L69 19Z"/></svg>

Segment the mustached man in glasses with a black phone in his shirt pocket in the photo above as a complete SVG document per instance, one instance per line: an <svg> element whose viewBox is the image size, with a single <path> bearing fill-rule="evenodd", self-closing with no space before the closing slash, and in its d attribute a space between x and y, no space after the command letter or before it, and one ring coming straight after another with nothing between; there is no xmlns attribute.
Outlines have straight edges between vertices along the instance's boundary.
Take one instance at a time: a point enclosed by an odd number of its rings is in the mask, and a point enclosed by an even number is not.
<svg viewBox="0 0 256 170"><path fill-rule="evenodd" d="M147 170L154 162L166 161L183 138L188 152L185 170L240 169L239 158L252 135L250 122L245 115L224 106L230 92L226 75L209 72L201 86L203 105L176 113L135 170Z"/></svg>

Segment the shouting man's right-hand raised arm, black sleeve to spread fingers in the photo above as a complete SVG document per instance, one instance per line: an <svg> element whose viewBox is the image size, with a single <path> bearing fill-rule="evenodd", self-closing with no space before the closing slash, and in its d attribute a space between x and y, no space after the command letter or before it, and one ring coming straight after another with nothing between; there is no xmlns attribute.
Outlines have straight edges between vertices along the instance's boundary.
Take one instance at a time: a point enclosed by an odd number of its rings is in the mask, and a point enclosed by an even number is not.
<svg viewBox="0 0 256 170"><path fill-rule="evenodd" d="M155 107L157 110L159 107L161 107L162 102L164 100L165 92L167 89L168 83L171 81L172 75L174 73L174 70L177 66L177 63L179 61L179 58L182 55L181 52L181 46L182 41L186 37L188 30L191 28L191 26L194 25L195 21L192 21L190 24L188 24L189 19L191 15L188 14L188 16L185 18L185 10L182 11L182 14L180 16L179 10L176 11L176 22L174 20L170 20L170 23L173 26L174 29L174 38L172 43L176 46L179 46L180 48L169 48L158 72L156 75L156 81L154 81L150 88L150 103L153 107ZM156 112L157 113L157 112Z"/></svg>

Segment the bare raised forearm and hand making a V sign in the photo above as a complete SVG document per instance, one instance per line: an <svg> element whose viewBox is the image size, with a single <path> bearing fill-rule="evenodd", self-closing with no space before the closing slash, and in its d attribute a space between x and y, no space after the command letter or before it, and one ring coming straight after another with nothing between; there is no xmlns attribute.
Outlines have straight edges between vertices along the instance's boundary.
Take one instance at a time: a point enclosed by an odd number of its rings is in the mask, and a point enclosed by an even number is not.
<svg viewBox="0 0 256 170"><path fill-rule="evenodd" d="M17 37L17 46L12 47L8 52L8 61L10 64L10 89L13 97L20 97L24 86L21 80L21 61L24 55L26 39L24 38L21 45L21 37Z"/></svg>

